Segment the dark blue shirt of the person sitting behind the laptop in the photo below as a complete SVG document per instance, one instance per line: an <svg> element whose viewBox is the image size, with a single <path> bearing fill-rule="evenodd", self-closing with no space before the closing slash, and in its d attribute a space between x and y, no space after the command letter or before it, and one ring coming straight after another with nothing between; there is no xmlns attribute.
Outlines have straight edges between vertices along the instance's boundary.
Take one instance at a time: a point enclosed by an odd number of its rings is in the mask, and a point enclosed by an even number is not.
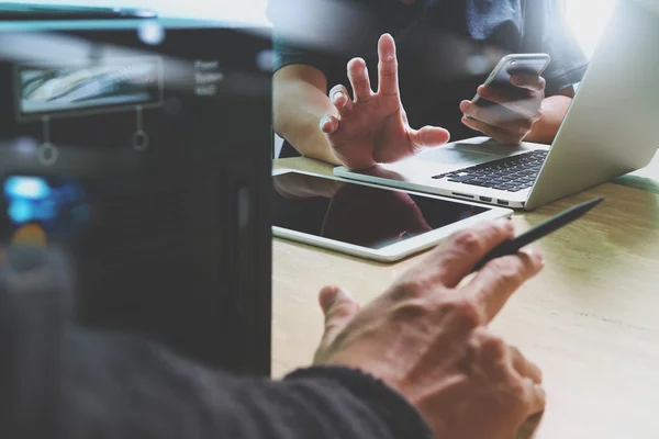
<svg viewBox="0 0 659 439"><path fill-rule="evenodd" d="M499 59L512 53L547 53L546 94L579 82L588 66L568 29L560 0L270 0L279 69L316 67L350 90L346 65L367 61L377 90L377 42L396 42L400 87L410 124L443 126L453 139L479 135L461 124L458 108L471 99ZM286 154L286 153L284 153Z"/></svg>

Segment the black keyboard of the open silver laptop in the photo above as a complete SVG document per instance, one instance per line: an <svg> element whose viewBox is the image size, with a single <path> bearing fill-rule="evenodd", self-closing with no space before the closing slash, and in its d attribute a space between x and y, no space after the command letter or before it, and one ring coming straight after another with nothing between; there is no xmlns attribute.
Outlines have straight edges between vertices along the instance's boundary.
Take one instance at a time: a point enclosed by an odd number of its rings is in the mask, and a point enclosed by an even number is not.
<svg viewBox="0 0 659 439"><path fill-rule="evenodd" d="M533 185L547 151L537 149L487 164L471 166L454 172L442 173L434 179L448 179L456 183L479 185L507 192L520 192Z"/></svg>

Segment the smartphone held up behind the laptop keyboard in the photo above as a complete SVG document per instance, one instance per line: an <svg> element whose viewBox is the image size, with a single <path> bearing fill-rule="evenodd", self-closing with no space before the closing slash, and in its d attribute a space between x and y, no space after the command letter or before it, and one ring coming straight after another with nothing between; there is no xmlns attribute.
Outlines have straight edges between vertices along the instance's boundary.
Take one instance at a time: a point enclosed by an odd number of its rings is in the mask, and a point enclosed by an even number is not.
<svg viewBox="0 0 659 439"><path fill-rule="evenodd" d="M506 55L496 64L496 67L494 67L483 85L512 93L520 92L520 88L511 83L511 76L522 74L543 75L543 71L545 71L550 61L551 58L548 54ZM481 99L478 93L471 102L480 106L494 105L494 103Z"/></svg>

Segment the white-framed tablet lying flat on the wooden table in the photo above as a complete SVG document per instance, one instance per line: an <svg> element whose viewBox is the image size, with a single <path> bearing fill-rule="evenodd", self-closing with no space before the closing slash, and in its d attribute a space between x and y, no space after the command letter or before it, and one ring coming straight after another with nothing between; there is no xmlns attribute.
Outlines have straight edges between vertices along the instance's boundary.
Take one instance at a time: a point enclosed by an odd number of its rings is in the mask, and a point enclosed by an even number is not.
<svg viewBox="0 0 659 439"><path fill-rule="evenodd" d="M272 172L275 236L382 262L513 211L292 169Z"/></svg>

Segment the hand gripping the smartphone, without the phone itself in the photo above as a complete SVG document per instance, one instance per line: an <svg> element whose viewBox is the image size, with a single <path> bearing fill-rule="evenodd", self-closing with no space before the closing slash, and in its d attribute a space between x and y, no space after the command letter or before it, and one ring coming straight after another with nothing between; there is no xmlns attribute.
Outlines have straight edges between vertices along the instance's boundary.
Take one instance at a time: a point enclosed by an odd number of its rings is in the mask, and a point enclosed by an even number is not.
<svg viewBox="0 0 659 439"><path fill-rule="evenodd" d="M520 145L543 116L545 79L539 75L512 75L511 83L518 89L506 92L480 86L478 94L498 105L478 106L462 101L460 110L469 116L462 117L462 123L501 144Z"/></svg>

